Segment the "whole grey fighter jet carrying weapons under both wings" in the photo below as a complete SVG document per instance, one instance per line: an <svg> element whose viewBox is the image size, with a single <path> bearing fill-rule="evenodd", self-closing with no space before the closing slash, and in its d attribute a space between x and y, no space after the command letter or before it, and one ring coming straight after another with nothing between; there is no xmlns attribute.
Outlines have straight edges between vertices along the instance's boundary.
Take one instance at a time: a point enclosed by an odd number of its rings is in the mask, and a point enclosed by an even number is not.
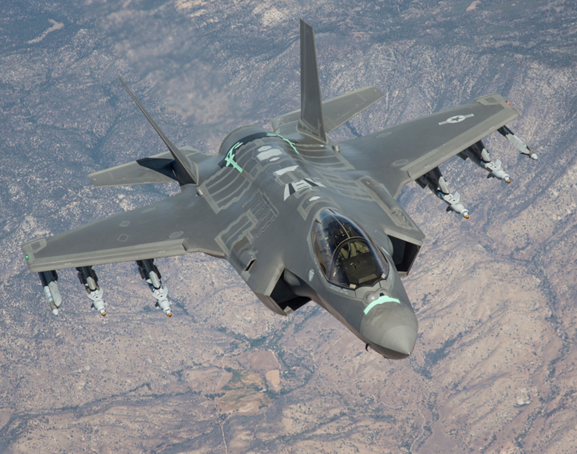
<svg viewBox="0 0 577 454"><path fill-rule="evenodd" d="M403 288L424 234L397 201L417 181L469 217L439 165L460 155L509 180L481 140L494 131L520 152L537 155L505 124L519 117L498 94L476 98L392 128L344 142L327 134L383 93L364 87L321 100L313 28L301 20L301 109L272 119L272 131L241 126L218 154L177 147L126 84L121 83L168 151L89 175L95 187L172 183L168 199L23 245L50 308L61 307L56 270L76 268L92 307L106 314L93 266L136 262L156 305L171 302L159 257L203 252L226 259L258 299L286 317L313 301L343 323L365 348L385 358L413 352L417 318ZM506 176L506 178L505 178Z"/></svg>

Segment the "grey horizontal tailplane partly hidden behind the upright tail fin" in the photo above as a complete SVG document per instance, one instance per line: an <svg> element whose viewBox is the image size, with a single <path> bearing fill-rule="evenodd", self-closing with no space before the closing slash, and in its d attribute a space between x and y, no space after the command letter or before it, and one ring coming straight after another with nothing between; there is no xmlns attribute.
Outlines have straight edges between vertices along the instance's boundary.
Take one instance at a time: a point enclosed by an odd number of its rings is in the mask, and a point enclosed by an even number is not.
<svg viewBox="0 0 577 454"><path fill-rule="evenodd" d="M323 113L325 133L334 131L351 118L356 117L363 110L383 98L383 96L383 92L371 85L369 87L359 88L359 90L354 90L344 95L336 96L336 98L328 99L328 101L324 101ZM279 134L283 132L284 128L290 127L294 130L300 116L301 111L294 110L275 117L271 120L272 128Z"/></svg>

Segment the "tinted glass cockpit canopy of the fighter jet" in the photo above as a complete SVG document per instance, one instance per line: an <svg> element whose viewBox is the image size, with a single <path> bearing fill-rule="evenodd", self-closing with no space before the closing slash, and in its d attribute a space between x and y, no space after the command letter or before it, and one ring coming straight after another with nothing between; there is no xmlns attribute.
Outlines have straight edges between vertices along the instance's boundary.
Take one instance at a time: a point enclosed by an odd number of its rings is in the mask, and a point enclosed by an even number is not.
<svg viewBox="0 0 577 454"><path fill-rule="evenodd" d="M351 219L323 210L312 228L314 255L332 284L357 288L387 278L389 265L362 229Z"/></svg>

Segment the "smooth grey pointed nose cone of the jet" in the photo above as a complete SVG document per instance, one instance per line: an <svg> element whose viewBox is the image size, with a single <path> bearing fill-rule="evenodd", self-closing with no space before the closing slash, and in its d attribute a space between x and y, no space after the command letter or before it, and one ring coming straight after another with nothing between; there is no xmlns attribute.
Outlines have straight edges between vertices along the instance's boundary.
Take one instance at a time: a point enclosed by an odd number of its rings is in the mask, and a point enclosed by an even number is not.
<svg viewBox="0 0 577 454"><path fill-rule="evenodd" d="M417 329L414 312L395 302L374 306L361 322L362 336L381 355L391 359L407 358L413 352Z"/></svg>

